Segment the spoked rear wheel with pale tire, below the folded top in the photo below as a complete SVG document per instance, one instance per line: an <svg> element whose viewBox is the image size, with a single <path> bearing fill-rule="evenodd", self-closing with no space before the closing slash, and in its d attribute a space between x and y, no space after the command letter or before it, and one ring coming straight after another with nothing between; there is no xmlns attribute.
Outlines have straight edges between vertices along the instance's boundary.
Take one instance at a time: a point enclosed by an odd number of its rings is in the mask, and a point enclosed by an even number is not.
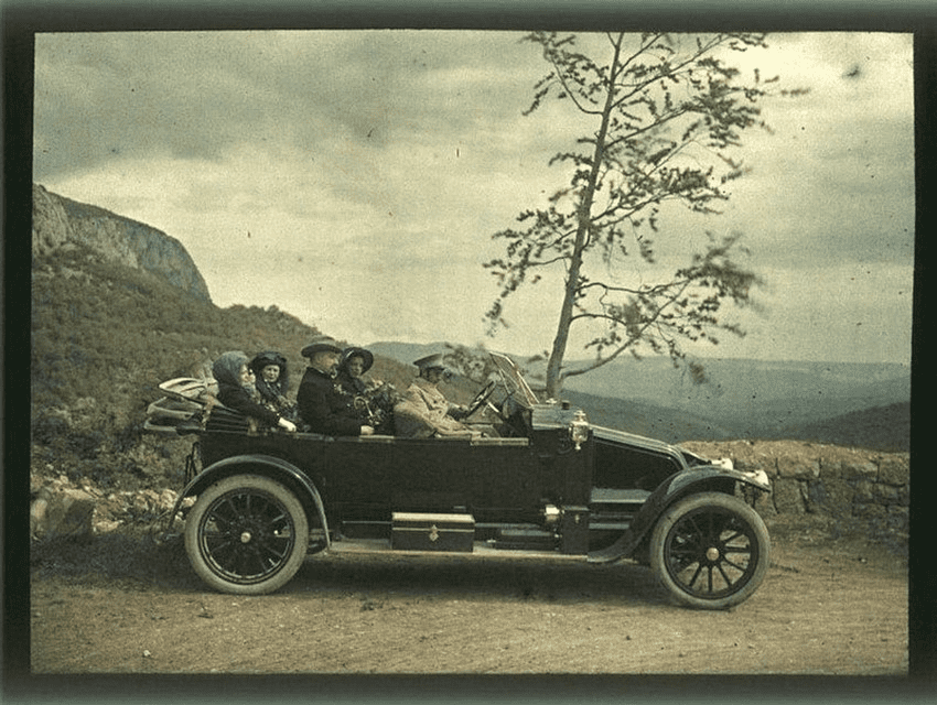
<svg viewBox="0 0 937 705"><path fill-rule="evenodd" d="M185 552L209 587L262 595L295 575L309 547L309 521L289 489L259 475L235 475L198 496L185 521Z"/></svg>

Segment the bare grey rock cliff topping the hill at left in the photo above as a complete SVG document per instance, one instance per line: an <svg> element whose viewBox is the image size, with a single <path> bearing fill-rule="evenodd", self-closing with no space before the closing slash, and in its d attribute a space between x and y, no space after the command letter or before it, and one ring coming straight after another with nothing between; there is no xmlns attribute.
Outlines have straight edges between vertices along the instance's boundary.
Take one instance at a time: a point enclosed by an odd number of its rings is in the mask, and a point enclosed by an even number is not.
<svg viewBox="0 0 937 705"><path fill-rule="evenodd" d="M33 184L34 258L84 248L114 263L165 279L195 299L211 301L208 288L182 243L142 223L77 203Z"/></svg>

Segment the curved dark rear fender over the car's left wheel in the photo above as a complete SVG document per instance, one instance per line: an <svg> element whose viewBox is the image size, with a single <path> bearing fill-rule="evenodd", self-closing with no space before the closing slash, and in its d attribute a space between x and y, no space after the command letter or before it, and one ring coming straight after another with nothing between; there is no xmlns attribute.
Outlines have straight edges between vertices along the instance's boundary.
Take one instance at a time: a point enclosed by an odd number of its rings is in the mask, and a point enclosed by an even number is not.
<svg viewBox="0 0 937 705"><path fill-rule="evenodd" d="M182 490L176 500L172 517L175 517L182 500L204 491L206 487L233 475L255 474L269 477L289 487L297 494L297 498L305 509L306 516L312 521L319 517L321 525L325 530L326 547L332 544L329 538L329 523L325 519L325 506L319 489L295 465L272 455L250 454L233 455L213 463L198 475L196 475L185 489Z"/></svg>

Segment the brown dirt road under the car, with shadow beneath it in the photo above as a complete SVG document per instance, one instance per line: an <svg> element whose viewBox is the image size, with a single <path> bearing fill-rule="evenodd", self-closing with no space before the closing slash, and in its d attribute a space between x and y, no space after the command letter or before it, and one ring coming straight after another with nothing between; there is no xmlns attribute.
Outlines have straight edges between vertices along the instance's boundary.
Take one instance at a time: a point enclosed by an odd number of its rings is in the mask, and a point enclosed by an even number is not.
<svg viewBox="0 0 937 705"><path fill-rule="evenodd" d="M650 571L632 563L312 556L279 593L234 597L203 588L177 546L143 555L137 546L121 561L121 545L33 557L34 673L908 668L906 562L862 539L775 539L764 585L718 612L675 606Z"/></svg>

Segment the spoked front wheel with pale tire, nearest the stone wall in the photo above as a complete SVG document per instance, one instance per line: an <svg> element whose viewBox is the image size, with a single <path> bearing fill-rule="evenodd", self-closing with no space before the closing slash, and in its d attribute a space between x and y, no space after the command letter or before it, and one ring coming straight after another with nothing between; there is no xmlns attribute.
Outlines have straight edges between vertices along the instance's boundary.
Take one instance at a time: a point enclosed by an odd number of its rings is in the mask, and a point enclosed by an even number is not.
<svg viewBox="0 0 937 705"><path fill-rule="evenodd" d="M728 609L758 588L771 562L771 539L754 509L731 495L681 499L658 519L650 567L680 603Z"/></svg>

